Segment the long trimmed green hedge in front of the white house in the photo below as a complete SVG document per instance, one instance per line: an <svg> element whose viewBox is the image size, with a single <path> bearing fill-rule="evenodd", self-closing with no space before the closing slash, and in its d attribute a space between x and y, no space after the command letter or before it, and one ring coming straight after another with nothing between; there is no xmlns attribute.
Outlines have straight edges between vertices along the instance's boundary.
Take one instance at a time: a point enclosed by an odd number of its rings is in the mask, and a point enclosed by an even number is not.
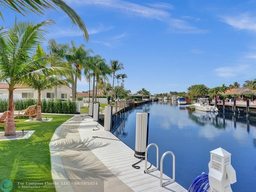
<svg viewBox="0 0 256 192"><path fill-rule="evenodd" d="M28 108L30 105L36 105L36 99L21 99L14 100L15 110L20 111L22 109ZM0 112L7 111L7 100L0 99ZM65 113L74 114L76 113L76 102L62 101L62 100L41 100L41 111L42 113Z"/></svg>

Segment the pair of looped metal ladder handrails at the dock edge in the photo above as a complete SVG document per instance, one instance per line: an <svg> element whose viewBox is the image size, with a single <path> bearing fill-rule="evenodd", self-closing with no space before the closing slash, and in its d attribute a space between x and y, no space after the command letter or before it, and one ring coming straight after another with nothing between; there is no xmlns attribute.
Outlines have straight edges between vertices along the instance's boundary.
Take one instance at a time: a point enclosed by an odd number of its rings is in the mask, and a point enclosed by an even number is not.
<svg viewBox="0 0 256 192"><path fill-rule="evenodd" d="M151 146L156 146L156 167L152 169L147 169L147 163L148 163L148 149ZM169 179L163 183L163 162L164 162L164 157L168 154L172 155L172 179ZM149 173L149 172L154 172L159 169L158 167L158 158L159 157L159 149L158 146L155 143L151 143L147 146L146 151L145 151L145 171L144 173ZM164 187L166 185L169 185L171 183L175 182L175 155L172 151L166 151L160 160L160 187Z"/></svg>

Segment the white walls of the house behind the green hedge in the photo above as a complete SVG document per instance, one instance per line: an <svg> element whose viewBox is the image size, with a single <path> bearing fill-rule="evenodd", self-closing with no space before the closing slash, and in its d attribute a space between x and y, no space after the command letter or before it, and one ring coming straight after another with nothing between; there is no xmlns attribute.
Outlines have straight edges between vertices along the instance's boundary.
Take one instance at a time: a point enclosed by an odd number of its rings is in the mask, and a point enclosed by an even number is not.
<svg viewBox="0 0 256 192"><path fill-rule="evenodd" d="M8 99L8 91L9 85L7 83L0 83L0 98ZM27 85L20 84L15 85L15 89L13 92L14 99L27 99L27 98L35 98L37 99L38 93L37 90L29 88ZM62 85L57 88L57 99L68 100L72 96L72 89L68 85ZM52 90L44 90L41 92L41 99L50 98L54 99L54 89Z"/></svg>

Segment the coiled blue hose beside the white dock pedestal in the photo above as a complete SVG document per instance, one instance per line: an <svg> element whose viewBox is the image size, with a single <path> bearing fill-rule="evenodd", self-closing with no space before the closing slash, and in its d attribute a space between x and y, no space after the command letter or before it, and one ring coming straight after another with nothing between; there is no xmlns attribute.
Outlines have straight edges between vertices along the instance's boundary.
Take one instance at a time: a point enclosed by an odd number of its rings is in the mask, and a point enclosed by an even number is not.
<svg viewBox="0 0 256 192"><path fill-rule="evenodd" d="M196 177L188 188L188 192L206 192L210 187L208 174L203 173Z"/></svg>

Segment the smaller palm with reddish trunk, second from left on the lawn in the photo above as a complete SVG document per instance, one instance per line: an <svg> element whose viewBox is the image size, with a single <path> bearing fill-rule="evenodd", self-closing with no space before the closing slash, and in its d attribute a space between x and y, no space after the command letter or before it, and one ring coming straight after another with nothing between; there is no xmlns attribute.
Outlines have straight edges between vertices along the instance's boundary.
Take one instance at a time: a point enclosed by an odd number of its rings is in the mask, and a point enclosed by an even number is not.
<svg viewBox="0 0 256 192"><path fill-rule="evenodd" d="M24 76L24 83L38 92L36 115L36 120L38 121L42 121L41 92L46 89L52 89L53 87L59 85L68 84L69 81L67 79L62 79L61 76L63 74L70 75L73 73L72 68L47 67L45 62L40 62L40 58L44 58L45 56L46 53L38 44L33 60L37 60L38 65L41 65L42 68L45 69L46 73L38 75L37 73L31 72Z"/></svg>

